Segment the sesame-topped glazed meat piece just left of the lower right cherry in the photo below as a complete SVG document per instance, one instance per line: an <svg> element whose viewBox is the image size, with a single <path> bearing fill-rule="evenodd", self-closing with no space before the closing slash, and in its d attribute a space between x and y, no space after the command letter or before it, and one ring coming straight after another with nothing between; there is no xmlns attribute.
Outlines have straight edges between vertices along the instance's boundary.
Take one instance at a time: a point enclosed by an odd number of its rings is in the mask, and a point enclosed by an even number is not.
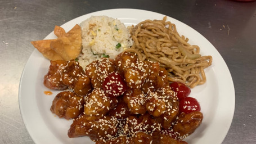
<svg viewBox="0 0 256 144"><path fill-rule="evenodd" d="M153 115L164 129L170 128L179 114L177 96L169 86L151 92L147 95L145 104L149 114Z"/></svg>

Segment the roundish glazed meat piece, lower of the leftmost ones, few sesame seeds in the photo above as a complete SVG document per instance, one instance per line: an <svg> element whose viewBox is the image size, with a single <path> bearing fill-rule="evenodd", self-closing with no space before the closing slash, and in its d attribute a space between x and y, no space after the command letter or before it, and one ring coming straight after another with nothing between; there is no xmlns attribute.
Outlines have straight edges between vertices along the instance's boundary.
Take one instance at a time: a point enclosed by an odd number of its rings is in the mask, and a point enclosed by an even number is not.
<svg viewBox="0 0 256 144"><path fill-rule="evenodd" d="M73 92L60 92L52 101L51 111L59 118L74 119L83 113L84 98Z"/></svg>

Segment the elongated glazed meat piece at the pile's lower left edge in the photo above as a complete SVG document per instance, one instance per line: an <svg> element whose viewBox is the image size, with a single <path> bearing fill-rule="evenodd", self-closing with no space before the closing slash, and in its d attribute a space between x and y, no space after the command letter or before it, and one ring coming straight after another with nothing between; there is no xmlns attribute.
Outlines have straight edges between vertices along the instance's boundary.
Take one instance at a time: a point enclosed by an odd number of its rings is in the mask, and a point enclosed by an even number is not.
<svg viewBox="0 0 256 144"><path fill-rule="evenodd" d="M101 119L88 121L86 116L82 115L70 125L68 136L70 138L89 136L93 141L99 138L108 140L116 135L117 124L117 119L113 116L103 116Z"/></svg>

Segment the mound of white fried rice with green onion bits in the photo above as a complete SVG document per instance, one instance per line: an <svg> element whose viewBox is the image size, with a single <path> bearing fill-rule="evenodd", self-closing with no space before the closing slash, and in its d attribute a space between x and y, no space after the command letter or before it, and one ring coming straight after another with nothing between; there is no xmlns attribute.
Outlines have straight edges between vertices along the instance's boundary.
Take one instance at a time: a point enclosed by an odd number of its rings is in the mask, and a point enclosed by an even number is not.
<svg viewBox="0 0 256 144"><path fill-rule="evenodd" d="M86 68L88 64L101 57L115 57L133 41L129 30L118 19L107 16L91 16L80 23L82 29L82 52L79 64Z"/></svg>

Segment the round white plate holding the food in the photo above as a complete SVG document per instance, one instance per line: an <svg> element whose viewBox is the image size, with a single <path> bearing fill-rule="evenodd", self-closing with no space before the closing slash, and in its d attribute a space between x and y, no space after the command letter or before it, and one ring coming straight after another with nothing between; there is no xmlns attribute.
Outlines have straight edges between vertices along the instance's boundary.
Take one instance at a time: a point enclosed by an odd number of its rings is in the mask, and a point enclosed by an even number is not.
<svg viewBox="0 0 256 144"><path fill-rule="evenodd" d="M66 31L93 15L106 15L124 22L125 25L137 24L145 19L162 19L164 15L151 11L134 9L113 9L89 13L73 19L61 27ZM221 55L214 46L190 26L182 22L167 18L177 26L179 34L190 38L190 44L196 44L202 55L212 55L212 66L206 68L207 81L202 86L191 89L192 97L197 98L204 114L203 123L196 132L188 136L188 143L221 143L230 128L235 109L235 90L230 71ZM53 39L52 33L45 39ZM31 39L35 40L35 39ZM19 104L23 122L35 143L93 143L88 137L69 138L68 129L72 120L59 119L50 111L53 95L44 95L49 91L43 85L43 77L48 71L50 61L37 50L34 50L25 65L20 80Z"/></svg>

